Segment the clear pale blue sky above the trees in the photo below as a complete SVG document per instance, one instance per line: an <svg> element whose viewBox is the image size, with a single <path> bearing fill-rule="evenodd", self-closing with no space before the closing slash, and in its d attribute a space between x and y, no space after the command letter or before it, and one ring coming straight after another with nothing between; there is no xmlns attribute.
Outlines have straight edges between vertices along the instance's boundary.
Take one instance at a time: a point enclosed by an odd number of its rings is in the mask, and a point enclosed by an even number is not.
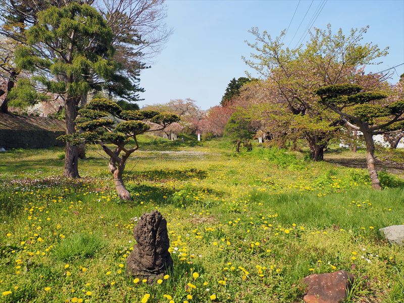
<svg viewBox="0 0 404 303"><path fill-rule="evenodd" d="M141 73L141 86L146 91L139 105L188 97L196 100L201 109L218 105L228 82L245 76L247 67L241 56L248 57L250 49L244 40L254 39L248 29L257 26L272 36L279 35L287 28L297 3L298 0L167 1L166 23L174 31L151 68ZM284 40L286 45L311 3L300 1ZM319 4L320 1L313 2L291 46L302 36ZM328 0L314 26L326 28L328 23L333 31L341 27L346 33L352 27L369 25L363 41L390 47L383 63L370 66L368 71L404 63L404 1ZM404 73L404 65L396 70L399 75ZM397 80L395 75L392 81Z"/></svg>

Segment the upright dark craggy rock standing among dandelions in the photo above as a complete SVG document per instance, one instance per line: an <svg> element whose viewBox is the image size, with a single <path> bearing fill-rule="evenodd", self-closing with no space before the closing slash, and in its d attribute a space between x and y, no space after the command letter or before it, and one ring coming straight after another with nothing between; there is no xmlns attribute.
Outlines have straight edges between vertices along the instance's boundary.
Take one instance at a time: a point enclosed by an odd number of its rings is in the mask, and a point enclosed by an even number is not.
<svg viewBox="0 0 404 303"><path fill-rule="evenodd" d="M144 276L151 282L173 266L168 248L167 221L158 211L143 214L133 229L137 244L126 259L126 273Z"/></svg>

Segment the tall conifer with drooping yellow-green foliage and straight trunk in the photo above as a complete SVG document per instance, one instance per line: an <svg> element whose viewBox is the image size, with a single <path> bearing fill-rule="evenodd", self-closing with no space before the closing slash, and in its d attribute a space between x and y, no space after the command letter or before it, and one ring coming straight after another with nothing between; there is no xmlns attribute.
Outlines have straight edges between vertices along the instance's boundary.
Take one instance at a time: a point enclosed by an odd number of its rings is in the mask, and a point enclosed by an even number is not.
<svg viewBox="0 0 404 303"><path fill-rule="evenodd" d="M25 36L16 64L36 74L33 79L44 90L64 96L66 134L73 134L81 96L114 77L112 31L94 8L73 2L39 12ZM79 177L77 162L77 146L67 142L66 177Z"/></svg>

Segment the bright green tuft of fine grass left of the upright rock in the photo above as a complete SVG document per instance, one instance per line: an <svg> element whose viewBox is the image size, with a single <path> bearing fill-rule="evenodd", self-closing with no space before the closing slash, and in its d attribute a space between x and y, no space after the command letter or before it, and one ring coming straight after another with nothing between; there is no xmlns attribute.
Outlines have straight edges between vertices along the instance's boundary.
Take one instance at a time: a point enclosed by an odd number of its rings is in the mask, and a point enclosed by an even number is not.
<svg viewBox="0 0 404 303"><path fill-rule="evenodd" d="M77 258L88 258L103 248L105 243L95 234L78 233L60 242L53 249L55 258L69 261Z"/></svg>

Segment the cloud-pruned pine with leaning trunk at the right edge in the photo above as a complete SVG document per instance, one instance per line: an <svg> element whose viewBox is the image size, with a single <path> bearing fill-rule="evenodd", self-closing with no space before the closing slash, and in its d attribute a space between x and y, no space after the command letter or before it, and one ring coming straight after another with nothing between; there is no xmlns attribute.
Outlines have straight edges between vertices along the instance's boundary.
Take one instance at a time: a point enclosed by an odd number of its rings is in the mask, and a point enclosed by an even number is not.
<svg viewBox="0 0 404 303"><path fill-rule="evenodd" d="M317 89L321 103L339 114L351 128L363 133L366 142L367 165L372 187L381 189L375 169L375 143L373 136L402 131L404 100L377 102L387 97L383 92L363 91L356 84L334 84Z"/></svg>

